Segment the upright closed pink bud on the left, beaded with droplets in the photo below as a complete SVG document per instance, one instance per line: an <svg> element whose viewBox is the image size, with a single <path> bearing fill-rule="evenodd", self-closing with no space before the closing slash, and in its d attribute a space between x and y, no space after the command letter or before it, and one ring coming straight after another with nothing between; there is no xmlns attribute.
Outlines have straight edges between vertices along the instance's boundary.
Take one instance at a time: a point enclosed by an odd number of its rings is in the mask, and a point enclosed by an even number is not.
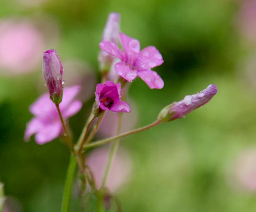
<svg viewBox="0 0 256 212"><path fill-rule="evenodd" d="M50 99L59 104L63 96L63 67L60 57L54 49L43 53L43 76L49 90Z"/></svg>

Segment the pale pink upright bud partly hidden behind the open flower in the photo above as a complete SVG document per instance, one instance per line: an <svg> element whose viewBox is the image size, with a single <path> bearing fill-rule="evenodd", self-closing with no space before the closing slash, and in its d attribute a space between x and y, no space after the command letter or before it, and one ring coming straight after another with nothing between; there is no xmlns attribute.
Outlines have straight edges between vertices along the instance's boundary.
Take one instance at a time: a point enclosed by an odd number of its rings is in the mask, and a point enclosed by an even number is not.
<svg viewBox="0 0 256 212"><path fill-rule="evenodd" d="M120 32L120 14L111 12L105 25L102 40L110 41L118 45ZM100 70L109 71L113 62L113 56L101 50L98 57Z"/></svg>

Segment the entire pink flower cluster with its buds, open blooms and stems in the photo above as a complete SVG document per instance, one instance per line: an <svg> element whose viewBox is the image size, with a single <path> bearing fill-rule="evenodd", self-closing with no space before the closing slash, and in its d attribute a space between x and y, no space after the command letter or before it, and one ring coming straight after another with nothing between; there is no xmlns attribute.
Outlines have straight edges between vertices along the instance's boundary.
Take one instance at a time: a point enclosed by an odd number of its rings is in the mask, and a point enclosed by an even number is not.
<svg viewBox="0 0 256 212"><path fill-rule="evenodd" d="M122 49L119 49L119 45L122 46ZM47 50L43 53L42 72L49 92L40 96L35 103L30 106L30 112L35 117L27 124L25 141L28 141L33 134L35 134L35 142L38 144L48 143L59 136L63 137L73 153L70 159L70 171L68 172L70 176L68 176L68 179L72 179L72 176L74 176L75 163L73 163L73 161L76 161L79 165L81 190L86 192L86 185L89 184L92 192L94 192L94 195L98 198L98 201L104 200L105 208L109 208L112 194L106 188L106 185L108 185L106 182L109 182L107 176L118 142L113 143L111 146L108 163L104 161L104 163L107 164L104 175L102 170L104 166L102 166L102 164L95 165L95 158L93 158L93 160L90 160L90 158L88 161L85 160L87 156L86 150L147 130L160 123L182 118L210 101L217 93L217 87L211 84L197 94L186 96L183 100L166 106L160 112L155 122L132 131L121 133L120 123L122 122L122 116L118 116L118 124L120 126L118 127L116 136L90 143L95 137L95 133L98 131L106 111L117 112L119 115L120 113L130 112L130 105L124 101L127 99L127 90L129 88L129 86L126 85L136 79L137 76L140 77L150 89L162 89L164 86L161 76L159 76L156 71L151 70L163 64L162 55L158 49L153 46L148 46L141 50L140 42L137 39L121 33L119 14L111 13L109 15L99 46L100 53L98 61L102 80L101 83L96 86L95 103L92 106L92 111L88 116L88 120L85 123L78 141L76 143L73 142L70 133L71 129L68 126L68 118L78 113L83 106L80 100L75 99L80 91L80 86L71 86L63 89L63 65L54 49ZM113 67L115 71L115 81L111 80L111 67ZM114 125L114 123L112 125ZM122 159L120 159L120 161L121 160ZM97 173L101 173L100 176L94 177ZM100 186L99 179L101 178L102 182ZM120 182L122 181L123 180L120 180ZM67 184L67 186L72 186L72 183ZM70 187L65 189L65 191L70 190ZM69 201L69 199L65 198L64 202L65 201ZM68 205L68 203L64 204L64 206L65 205ZM99 205L104 204L100 203Z"/></svg>

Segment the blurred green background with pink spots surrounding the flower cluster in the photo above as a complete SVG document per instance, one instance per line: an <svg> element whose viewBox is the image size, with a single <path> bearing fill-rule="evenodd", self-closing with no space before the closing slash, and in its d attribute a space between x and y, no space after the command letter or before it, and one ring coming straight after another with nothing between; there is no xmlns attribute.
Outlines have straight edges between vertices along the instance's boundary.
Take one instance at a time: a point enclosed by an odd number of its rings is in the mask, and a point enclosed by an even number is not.
<svg viewBox="0 0 256 212"><path fill-rule="evenodd" d="M60 211L69 150L58 139L23 141L30 104L46 92L41 55L57 49L65 85L82 84L84 108L70 118L75 138L93 103L99 42L109 12L121 30L156 46L165 86L136 79L124 126L208 84L218 94L186 118L123 139L127 176L115 190L124 212L254 212L256 209L256 0L1 0L0 180L8 212ZM109 115L109 120L112 120ZM107 120L108 121L108 120ZM106 121L106 123L108 123ZM108 124L106 124L108 125ZM98 137L110 132L104 127ZM122 161L120 159L120 161ZM128 172L127 172L128 170ZM74 186L71 211L81 211Z"/></svg>

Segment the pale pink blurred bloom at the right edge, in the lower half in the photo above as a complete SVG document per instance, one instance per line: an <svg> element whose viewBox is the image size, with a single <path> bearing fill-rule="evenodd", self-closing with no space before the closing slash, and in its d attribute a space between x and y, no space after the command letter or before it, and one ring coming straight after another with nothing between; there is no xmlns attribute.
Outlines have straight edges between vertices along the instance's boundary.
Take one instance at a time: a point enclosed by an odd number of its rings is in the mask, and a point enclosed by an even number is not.
<svg viewBox="0 0 256 212"><path fill-rule="evenodd" d="M256 192L256 149L244 150L238 156L234 175L238 184L245 190Z"/></svg>

